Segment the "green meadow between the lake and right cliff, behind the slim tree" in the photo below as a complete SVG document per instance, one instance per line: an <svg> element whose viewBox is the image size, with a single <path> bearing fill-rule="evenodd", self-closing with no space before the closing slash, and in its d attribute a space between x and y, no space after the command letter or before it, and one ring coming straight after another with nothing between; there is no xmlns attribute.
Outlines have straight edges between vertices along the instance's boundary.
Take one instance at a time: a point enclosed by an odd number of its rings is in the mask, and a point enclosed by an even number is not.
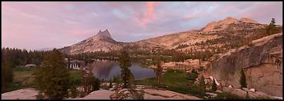
<svg viewBox="0 0 284 101"><path fill-rule="evenodd" d="M167 70L162 74L161 85L162 88L172 90L177 93L191 94L197 97L200 95L200 89L193 84L193 81L186 79L188 73L184 70ZM157 78L136 80L136 84L157 86Z"/></svg>

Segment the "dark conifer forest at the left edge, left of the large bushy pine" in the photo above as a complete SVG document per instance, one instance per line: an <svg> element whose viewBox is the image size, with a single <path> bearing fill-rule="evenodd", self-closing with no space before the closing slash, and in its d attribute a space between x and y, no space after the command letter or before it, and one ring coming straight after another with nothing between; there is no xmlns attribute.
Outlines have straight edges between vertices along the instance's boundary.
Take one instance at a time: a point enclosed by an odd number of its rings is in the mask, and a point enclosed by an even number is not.
<svg viewBox="0 0 284 101"><path fill-rule="evenodd" d="M27 51L18 48L1 48L1 87L13 81L13 69L19 65L35 64L39 66L48 51Z"/></svg>

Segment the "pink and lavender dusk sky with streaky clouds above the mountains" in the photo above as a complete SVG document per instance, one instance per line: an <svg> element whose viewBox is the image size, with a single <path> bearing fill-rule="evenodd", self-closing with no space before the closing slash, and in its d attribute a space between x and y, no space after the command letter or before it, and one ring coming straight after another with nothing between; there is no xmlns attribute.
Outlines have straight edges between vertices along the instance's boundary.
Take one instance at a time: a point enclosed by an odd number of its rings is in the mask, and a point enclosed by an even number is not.
<svg viewBox="0 0 284 101"><path fill-rule="evenodd" d="M63 48L108 29L131 42L201 29L227 17L283 24L283 2L7 2L1 1L1 47Z"/></svg>

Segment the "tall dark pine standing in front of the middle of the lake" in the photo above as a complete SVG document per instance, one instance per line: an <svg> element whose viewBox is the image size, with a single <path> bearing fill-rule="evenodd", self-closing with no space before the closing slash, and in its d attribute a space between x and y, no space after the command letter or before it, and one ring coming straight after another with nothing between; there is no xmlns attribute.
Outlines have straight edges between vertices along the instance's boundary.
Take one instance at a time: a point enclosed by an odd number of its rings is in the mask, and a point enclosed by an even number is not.
<svg viewBox="0 0 284 101"><path fill-rule="evenodd" d="M126 51L122 51L120 58L119 58L119 62L120 62L120 69L121 69L120 76L122 77L122 81L124 84L123 88L129 88L128 83L129 83L129 79L131 75L129 67L131 67L131 61Z"/></svg>

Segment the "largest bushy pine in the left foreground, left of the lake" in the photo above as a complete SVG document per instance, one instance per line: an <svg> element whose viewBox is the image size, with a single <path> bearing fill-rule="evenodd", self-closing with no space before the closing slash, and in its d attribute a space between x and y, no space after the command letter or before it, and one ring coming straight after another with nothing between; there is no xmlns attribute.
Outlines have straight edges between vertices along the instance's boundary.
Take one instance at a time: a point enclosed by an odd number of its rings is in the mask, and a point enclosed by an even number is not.
<svg viewBox="0 0 284 101"><path fill-rule="evenodd" d="M44 58L44 66L35 73L38 89L49 99L68 97L70 89L70 72L66 68L63 54L54 48Z"/></svg>

